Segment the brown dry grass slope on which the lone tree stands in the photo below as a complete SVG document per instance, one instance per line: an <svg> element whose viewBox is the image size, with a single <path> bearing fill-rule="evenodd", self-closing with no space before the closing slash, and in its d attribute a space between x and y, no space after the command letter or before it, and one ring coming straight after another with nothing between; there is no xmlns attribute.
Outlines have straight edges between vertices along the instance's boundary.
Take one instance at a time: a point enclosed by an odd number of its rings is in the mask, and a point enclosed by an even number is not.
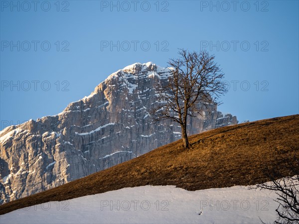
<svg viewBox="0 0 299 224"><path fill-rule="evenodd" d="M176 185L189 191L268 181L263 169L299 150L299 114L221 127L159 147L65 185L0 206L16 209L143 185ZM284 176L292 175L282 170Z"/></svg>

